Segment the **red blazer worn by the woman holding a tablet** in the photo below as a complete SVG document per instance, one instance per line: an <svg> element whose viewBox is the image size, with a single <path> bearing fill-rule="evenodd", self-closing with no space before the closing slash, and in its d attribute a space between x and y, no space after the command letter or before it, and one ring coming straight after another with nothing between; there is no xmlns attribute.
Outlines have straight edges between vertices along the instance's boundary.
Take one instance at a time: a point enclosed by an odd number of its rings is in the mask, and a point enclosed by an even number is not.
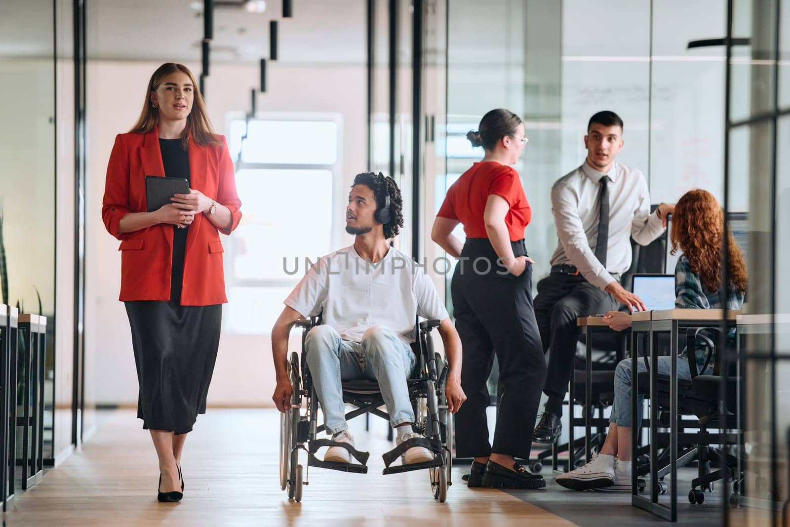
<svg viewBox="0 0 790 527"><path fill-rule="evenodd" d="M201 146L190 139L190 186L231 210L229 235L241 220L233 162L225 137L220 146ZM145 212L145 176L164 177L159 134L118 134L107 164L102 218L107 232L121 240L120 300L169 300L173 258L173 226L159 224L136 232L118 232L127 213ZM220 230L196 214L186 237L181 303L209 306L226 303Z"/></svg>

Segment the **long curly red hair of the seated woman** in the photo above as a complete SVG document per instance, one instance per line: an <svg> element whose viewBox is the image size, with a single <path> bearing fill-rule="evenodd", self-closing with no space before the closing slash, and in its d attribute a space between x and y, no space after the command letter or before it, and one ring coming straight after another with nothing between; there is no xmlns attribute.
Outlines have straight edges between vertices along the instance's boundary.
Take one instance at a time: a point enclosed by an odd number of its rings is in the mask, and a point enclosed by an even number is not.
<svg viewBox="0 0 790 527"><path fill-rule="evenodd" d="M747 272L743 251L727 230L729 280L739 292L746 291ZM689 190L678 200L672 214L672 254L678 247L689 259L709 291L721 284L721 251L724 247L724 211L707 190Z"/></svg>

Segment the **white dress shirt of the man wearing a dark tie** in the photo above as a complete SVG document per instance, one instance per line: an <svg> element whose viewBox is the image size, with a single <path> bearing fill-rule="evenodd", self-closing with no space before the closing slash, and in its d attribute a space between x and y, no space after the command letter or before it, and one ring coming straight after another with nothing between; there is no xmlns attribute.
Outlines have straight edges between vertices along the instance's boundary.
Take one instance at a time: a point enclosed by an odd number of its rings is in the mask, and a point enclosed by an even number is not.
<svg viewBox="0 0 790 527"><path fill-rule="evenodd" d="M600 179L608 175L609 240L606 267L595 257L600 213ZM559 243L551 265L575 265L590 284L605 289L631 265L630 237L639 245L658 238L664 227L657 213L650 213L645 175L615 163L604 174L585 160L551 187L551 212Z"/></svg>

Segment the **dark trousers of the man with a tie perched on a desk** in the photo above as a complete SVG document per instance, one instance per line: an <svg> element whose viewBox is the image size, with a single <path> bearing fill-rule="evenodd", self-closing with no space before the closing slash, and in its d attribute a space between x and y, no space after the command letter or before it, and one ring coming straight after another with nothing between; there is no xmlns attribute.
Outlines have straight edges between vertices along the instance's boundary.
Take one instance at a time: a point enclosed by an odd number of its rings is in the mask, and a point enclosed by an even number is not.
<svg viewBox="0 0 790 527"><path fill-rule="evenodd" d="M544 388L549 397L547 411L562 416L562 400L574 371L576 319L618 307L615 297L590 284L581 274L551 273L538 282L535 318L544 352L551 349Z"/></svg>

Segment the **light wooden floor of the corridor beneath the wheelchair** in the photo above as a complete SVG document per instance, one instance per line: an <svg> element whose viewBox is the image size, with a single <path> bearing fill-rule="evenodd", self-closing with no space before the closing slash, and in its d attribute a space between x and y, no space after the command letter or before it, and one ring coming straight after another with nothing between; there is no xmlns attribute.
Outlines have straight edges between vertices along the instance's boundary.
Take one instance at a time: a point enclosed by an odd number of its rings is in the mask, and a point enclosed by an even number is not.
<svg viewBox="0 0 790 527"><path fill-rule="evenodd" d="M375 417L370 432L364 418L351 422L356 446L371 452L370 471L310 470L302 503L291 502L277 476L276 410L199 416L182 459L184 499L158 503L148 432L132 411L105 417L80 451L21 495L5 515L8 525L574 525L528 503L529 495L468 489L461 467L442 504L431 496L427 471L382 476L380 454L392 445Z"/></svg>

